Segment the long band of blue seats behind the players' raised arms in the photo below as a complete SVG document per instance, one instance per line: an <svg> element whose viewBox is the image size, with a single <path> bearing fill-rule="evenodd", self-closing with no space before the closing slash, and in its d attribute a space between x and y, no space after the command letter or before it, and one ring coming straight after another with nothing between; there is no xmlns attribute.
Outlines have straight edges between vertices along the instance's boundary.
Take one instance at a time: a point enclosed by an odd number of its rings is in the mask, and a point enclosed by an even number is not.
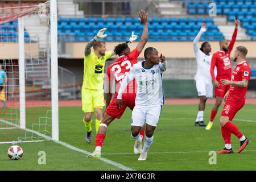
<svg viewBox="0 0 256 182"><path fill-rule="evenodd" d="M150 18L148 33L150 41L192 41L206 22L208 32L201 40L221 40L224 38L212 18ZM58 35L73 36L73 42L88 41L100 28L106 27L106 41L124 41L131 31L141 36L143 26L137 18L60 18Z"/></svg>

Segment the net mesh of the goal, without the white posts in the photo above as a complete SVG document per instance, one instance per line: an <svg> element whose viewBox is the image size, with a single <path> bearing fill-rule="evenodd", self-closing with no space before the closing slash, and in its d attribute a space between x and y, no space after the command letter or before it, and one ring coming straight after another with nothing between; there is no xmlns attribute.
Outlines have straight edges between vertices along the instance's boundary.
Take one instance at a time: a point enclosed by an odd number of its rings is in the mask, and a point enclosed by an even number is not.
<svg viewBox="0 0 256 182"><path fill-rule="evenodd" d="M2 7L0 14L0 143L51 137L49 2ZM26 129L19 127L18 18L24 22Z"/></svg>

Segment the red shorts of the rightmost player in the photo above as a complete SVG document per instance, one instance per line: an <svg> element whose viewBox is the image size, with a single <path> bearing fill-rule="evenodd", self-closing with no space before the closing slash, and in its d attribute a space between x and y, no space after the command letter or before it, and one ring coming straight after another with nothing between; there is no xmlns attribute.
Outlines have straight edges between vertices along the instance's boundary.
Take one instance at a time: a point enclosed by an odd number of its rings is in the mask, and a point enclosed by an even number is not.
<svg viewBox="0 0 256 182"><path fill-rule="evenodd" d="M227 116L229 120L232 121L234 116L244 105L245 102L227 101L222 109L221 116Z"/></svg>

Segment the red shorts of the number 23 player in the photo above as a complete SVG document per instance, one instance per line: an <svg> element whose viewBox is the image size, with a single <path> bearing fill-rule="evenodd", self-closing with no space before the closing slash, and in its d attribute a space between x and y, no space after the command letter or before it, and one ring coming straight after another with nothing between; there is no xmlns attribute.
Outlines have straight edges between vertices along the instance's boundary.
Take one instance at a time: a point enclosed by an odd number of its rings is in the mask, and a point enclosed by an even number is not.
<svg viewBox="0 0 256 182"><path fill-rule="evenodd" d="M117 93L115 93L113 100L110 102L105 112L112 118L121 118L128 106L131 110L135 107L136 93L123 93L122 94L122 107L117 108Z"/></svg>

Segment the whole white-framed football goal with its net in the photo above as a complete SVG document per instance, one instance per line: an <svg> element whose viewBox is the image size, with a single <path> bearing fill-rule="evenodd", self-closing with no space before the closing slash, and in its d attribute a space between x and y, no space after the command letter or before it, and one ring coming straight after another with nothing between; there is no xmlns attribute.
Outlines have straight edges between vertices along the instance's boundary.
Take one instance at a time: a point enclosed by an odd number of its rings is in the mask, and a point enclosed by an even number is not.
<svg viewBox="0 0 256 182"><path fill-rule="evenodd" d="M59 139L56 9L0 8L0 143Z"/></svg>

